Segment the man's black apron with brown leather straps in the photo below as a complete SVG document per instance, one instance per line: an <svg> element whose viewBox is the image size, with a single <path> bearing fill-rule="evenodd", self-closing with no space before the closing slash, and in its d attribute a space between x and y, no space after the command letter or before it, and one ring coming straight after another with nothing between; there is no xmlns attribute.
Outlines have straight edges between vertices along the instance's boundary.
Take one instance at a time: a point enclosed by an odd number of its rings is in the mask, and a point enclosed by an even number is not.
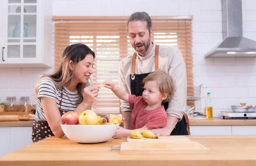
<svg viewBox="0 0 256 166"><path fill-rule="evenodd" d="M155 46L155 70L158 69L158 52L159 52L159 45ZM150 73L144 74L135 74L135 59L136 59L136 52L134 52L132 57L132 74L130 74L130 82L131 82L131 94L135 96L141 96L142 92L144 91L142 80ZM163 103L165 110L168 107L168 102ZM189 135L189 118L184 114L182 120L177 122L175 128L171 132L171 135Z"/></svg>

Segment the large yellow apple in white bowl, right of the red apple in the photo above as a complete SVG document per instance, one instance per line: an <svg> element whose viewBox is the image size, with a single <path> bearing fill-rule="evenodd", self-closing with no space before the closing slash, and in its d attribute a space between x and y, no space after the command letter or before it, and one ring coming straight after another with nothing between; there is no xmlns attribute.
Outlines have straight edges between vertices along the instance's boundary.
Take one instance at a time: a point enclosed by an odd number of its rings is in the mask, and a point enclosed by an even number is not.
<svg viewBox="0 0 256 166"><path fill-rule="evenodd" d="M83 111L79 115L78 120L79 120L79 124L87 124L87 125L98 124L97 114L90 109Z"/></svg>

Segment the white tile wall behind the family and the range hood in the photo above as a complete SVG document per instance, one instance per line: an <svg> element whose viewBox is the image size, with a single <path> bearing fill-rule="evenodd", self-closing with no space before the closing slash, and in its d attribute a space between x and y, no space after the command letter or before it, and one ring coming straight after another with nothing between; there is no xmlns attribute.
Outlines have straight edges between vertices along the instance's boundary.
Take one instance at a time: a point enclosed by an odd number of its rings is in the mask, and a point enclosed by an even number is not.
<svg viewBox="0 0 256 166"><path fill-rule="evenodd" d="M256 40L256 1L242 0L243 35ZM256 104L256 58L204 58L222 40L221 0L54 0L54 15L127 16L193 15L195 85L204 84L213 97L213 116L240 102ZM42 73L52 69L0 68L0 99L27 96Z"/></svg>

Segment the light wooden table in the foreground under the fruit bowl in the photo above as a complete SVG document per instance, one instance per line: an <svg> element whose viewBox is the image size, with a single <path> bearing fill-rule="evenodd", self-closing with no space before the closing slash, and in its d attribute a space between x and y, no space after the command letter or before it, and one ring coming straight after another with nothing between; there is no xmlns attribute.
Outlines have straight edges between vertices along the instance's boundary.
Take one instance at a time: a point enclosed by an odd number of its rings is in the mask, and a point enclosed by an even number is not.
<svg viewBox="0 0 256 166"><path fill-rule="evenodd" d="M79 144L49 137L0 157L0 166L256 166L256 135L187 135L209 154L123 155L110 150L126 138Z"/></svg>

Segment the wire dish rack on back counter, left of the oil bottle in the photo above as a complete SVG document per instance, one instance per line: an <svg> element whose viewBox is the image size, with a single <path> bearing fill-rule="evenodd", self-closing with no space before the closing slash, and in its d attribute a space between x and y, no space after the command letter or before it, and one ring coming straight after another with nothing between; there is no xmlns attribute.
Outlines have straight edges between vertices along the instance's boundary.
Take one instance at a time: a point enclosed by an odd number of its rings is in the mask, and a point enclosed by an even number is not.
<svg viewBox="0 0 256 166"><path fill-rule="evenodd" d="M207 92L204 84L187 86L187 105L191 106L194 119L207 119L205 107L202 107L202 100L207 106Z"/></svg>

